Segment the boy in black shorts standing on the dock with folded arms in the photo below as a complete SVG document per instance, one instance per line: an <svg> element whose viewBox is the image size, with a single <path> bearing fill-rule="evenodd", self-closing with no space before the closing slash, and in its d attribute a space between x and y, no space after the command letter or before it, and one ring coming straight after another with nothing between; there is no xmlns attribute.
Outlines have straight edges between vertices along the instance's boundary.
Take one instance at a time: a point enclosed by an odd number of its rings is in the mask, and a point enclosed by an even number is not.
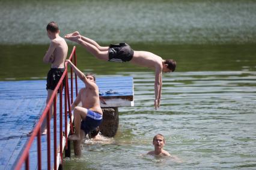
<svg viewBox="0 0 256 170"><path fill-rule="evenodd" d="M50 22L46 26L47 36L50 38L50 45L46 54L43 57L44 63L51 63L50 70L47 74L47 99L48 103L50 97L52 96L53 90L57 86L59 79L61 78L65 70L65 60L67 57L68 46L64 38L59 36L59 28L57 23ZM65 79L64 79L65 80ZM65 81L63 81L63 85ZM53 114L53 105L50 107L50 115ZM46 119L44 119L42 127L46 127ZM46 129L43 134L46 133Z"/></svg>

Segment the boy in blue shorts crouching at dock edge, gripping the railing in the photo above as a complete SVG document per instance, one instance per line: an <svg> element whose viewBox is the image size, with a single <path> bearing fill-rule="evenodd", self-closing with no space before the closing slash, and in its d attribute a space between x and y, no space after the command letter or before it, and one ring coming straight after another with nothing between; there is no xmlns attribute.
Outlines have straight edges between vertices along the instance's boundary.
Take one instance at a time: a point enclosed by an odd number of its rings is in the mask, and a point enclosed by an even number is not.
<svg viewBox="0 0 256 170"><path fill-rule="evenodd" d="M84 75L70 60L67 60L67 63L85 83L85 87L79 90L78 96L71 107L74 114L75 133L70 135L69 139L76 141L81 140L87 133L96 129L102 123L103 112L100 108L99 87L94 75ZM82 107L78 107L80 102Z"/></svg>

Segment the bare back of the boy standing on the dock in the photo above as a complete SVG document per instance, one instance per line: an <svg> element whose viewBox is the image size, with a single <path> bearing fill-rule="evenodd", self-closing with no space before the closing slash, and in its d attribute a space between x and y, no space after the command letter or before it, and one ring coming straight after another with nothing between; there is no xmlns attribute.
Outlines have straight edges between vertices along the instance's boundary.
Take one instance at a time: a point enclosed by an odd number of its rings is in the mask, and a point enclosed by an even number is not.
<svg viewBox="0 0 256 170"><path fill-rule="evenodd" d="M64 62L67 57L68 46L64 38L58 37L52 40L52 43L55 46L53 51L53 62L52 68L64 68Z"/></svg>

